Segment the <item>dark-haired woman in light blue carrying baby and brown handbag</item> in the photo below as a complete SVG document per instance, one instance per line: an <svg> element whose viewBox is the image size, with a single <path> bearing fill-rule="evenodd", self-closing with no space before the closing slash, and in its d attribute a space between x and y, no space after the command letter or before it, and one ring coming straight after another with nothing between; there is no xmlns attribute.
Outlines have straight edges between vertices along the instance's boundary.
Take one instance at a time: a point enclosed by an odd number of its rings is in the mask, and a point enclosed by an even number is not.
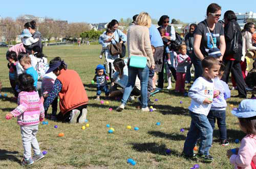
<svg viewBox="0 0 256 169"><path fill-rule="evenodd" d="M126 35L120 31L118 28L118 21L116 19L113 19L111 20L111 22L109 22L108 24L108 28L111 29L113 32L114 32L114 39L119 42L119 43L125 43L126 40L127 40L127 37ZM103 32L103 34L106 34L106 32ZM115 40L113 39L109 39L109 40L104 40L102 38L103 36L100 36L99 37L99 43L100 44L103 44L103 43L110 43L110 42L113 42L115 43ZM111 79L111 82L113 83L113 77L112 75L114 74L114 66L113 66L113 62L115 59L119 58L119 55L115 55L115 56L112 56L109 52L109 50L106 50L105 52L105 58L106 58L106 65L108 67L106 67L106 71L107 73L110 74L110 79ZM114 83L113 83L114 84Z"/></svg>

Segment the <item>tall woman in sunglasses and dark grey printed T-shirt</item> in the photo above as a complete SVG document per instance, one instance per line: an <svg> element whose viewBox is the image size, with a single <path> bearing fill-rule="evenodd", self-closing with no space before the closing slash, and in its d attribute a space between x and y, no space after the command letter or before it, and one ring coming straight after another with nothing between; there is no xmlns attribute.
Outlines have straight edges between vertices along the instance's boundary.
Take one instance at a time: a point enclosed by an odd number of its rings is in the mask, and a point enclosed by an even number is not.
<svg viewBox="0 0 256 169"><path fill-rule="evenodd" d="M209 49L218 47L222 56L226 49L224 28L221 23L218 23L221 17L221 6L215 3L210 4L207 7L206 15L207 18L198 24L194 37L194 49L191 61L195 67L195 79L202 75L201 61L204 57L208 56ZM214 44L212 44L212 41ZM222 57L220 60L222 60Z"/></svg>

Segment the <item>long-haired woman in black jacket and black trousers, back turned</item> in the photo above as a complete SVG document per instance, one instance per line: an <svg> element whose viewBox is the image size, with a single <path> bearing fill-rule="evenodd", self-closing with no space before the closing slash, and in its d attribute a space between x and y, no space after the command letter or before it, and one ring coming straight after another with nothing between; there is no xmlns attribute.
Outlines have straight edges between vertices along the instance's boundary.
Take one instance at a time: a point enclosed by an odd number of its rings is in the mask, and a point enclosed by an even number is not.
<svg viewBox="0 0 256 169"><path fill-rule="evenodd" d="M230 71L234 77L234 80L237 82L238 93L240 98L246 98L246 88L245 81L243 79L242 70L241 70L241 57L243 40L241 28L237 22L237 16L233 11L226 11L224 14L225 22L225 42L226 42L226 51L223 57L225 63L225 70L222 77L222 80L228 83ZM235 32L237 32L237 39L234 38ZM238 43L238 47L234 50L234 42Z"/></svg>

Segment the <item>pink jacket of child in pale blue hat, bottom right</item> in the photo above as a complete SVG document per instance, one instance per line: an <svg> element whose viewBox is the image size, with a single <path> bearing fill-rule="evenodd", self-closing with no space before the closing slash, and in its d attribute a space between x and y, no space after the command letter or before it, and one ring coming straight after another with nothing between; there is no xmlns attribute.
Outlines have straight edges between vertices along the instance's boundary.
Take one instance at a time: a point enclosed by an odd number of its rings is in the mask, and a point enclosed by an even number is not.
<svg viewBox="0 0 256 169"><path fill-rule="evenodd" d="M235 169L251 169L251 161L256 164L256 136L246 135L238 151L238 155L229 158Z"/></svg>

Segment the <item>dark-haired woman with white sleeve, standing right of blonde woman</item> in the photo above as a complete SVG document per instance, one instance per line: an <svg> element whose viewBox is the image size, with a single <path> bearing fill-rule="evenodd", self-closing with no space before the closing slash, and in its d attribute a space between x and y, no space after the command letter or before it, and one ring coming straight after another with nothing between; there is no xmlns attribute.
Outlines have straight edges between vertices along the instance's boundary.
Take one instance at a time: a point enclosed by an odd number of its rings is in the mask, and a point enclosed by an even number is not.
<svg viewBox="0 0 256 169"><path fill-rule="evenodd" d="M169 26L169 16L167 15L163 15L160 17L159 21L158 21L158 26L160 26L158 28L158 30L160 30L161 28L165 28L166 30L166 35L162 36L163 39L167 39L167 42L170 41L175 41L176 36L175 36L175 28L174 26ZM164 42L165 43L165 42ZM172 50L172 49L170 49ZM166 55L166 51L164 50L163 53L163 61L165 59L165 55ZM174 60L174 53L170 52L170 60ZM174 68L174 63L172 62L172 65L168 65L170 71L172 71L172 75L174 76L174 79L176 80L176 69ZM164 78L163 78L163 69L164 66L162 66L162 71L160 71L158 73L158 88L156 90L162 90L163 89L163 83L164 83Z"/></svg>

